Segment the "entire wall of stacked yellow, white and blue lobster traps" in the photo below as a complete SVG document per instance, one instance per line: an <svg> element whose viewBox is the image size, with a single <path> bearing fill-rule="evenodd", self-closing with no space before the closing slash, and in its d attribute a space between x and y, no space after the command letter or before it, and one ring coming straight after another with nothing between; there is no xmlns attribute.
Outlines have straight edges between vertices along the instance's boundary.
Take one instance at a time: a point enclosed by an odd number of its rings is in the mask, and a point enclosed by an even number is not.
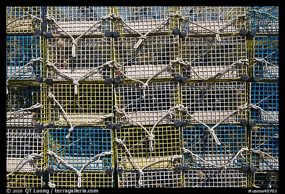
<svg viewBox="0 0 285 194"><path fill-rule="evenodd" d="M278 187L278 7L7 7L7 187Z"/></svg>

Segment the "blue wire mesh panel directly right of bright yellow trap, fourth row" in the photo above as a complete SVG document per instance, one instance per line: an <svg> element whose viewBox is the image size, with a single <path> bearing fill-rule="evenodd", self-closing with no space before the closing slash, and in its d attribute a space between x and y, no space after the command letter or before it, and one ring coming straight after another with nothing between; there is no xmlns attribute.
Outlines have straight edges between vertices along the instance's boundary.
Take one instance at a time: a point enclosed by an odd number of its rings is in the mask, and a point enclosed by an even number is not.
<svg viewBox="0 0 285 194"><path fill-rule="evenodd" d="M183 145L193 154L215 165L223 166L231 160L241 148L246 147L245 128L237 125L218 126L215 129L221 145L217 145L212 135L208 134L205 126L191 126L183 128ZM246 153L242 153L246 158ZM241 155L232 161L228 168L240 167L247 161ZM184 163L192 168L216 168L203 160L184 154Z"/></svg>

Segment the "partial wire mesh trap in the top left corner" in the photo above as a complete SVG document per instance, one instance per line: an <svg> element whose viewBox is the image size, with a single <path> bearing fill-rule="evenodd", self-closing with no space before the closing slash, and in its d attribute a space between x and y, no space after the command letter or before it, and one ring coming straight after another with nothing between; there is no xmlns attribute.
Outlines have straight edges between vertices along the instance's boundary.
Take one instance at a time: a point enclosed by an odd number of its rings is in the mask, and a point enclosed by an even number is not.
<svg viewBox="0 0 285 194"><path fill-rule="evenodd" d="M46 7L40 6L7 6L6 33L31 34L36 29L45 29Z"/></svg>

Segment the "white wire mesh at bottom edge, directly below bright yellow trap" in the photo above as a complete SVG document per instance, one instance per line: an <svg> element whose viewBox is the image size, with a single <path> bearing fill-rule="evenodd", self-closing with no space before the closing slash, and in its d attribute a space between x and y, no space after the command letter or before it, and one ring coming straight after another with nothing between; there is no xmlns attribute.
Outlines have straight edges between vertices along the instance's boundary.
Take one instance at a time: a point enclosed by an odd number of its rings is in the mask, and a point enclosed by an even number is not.
<svg viewBox="0 0 285 194"><path fill-rule="evenodd" d="M123 172L118 175L119 188L180 188L182 173L175 170L145 170L141 175L142 185L139 185L137 171Z"/></svg>

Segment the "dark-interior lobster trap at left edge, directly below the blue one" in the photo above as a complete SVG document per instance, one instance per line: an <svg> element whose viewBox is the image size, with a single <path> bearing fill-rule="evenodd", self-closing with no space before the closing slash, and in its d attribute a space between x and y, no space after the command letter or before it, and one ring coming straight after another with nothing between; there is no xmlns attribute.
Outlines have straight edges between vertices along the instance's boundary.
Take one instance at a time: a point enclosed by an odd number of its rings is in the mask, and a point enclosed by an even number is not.
<svg viewBox="0 0 285 194"><path fill-rule="evenodd" d="M6 126L32 127L49 121L47 86L39 83L9 83Z"/></svg>

